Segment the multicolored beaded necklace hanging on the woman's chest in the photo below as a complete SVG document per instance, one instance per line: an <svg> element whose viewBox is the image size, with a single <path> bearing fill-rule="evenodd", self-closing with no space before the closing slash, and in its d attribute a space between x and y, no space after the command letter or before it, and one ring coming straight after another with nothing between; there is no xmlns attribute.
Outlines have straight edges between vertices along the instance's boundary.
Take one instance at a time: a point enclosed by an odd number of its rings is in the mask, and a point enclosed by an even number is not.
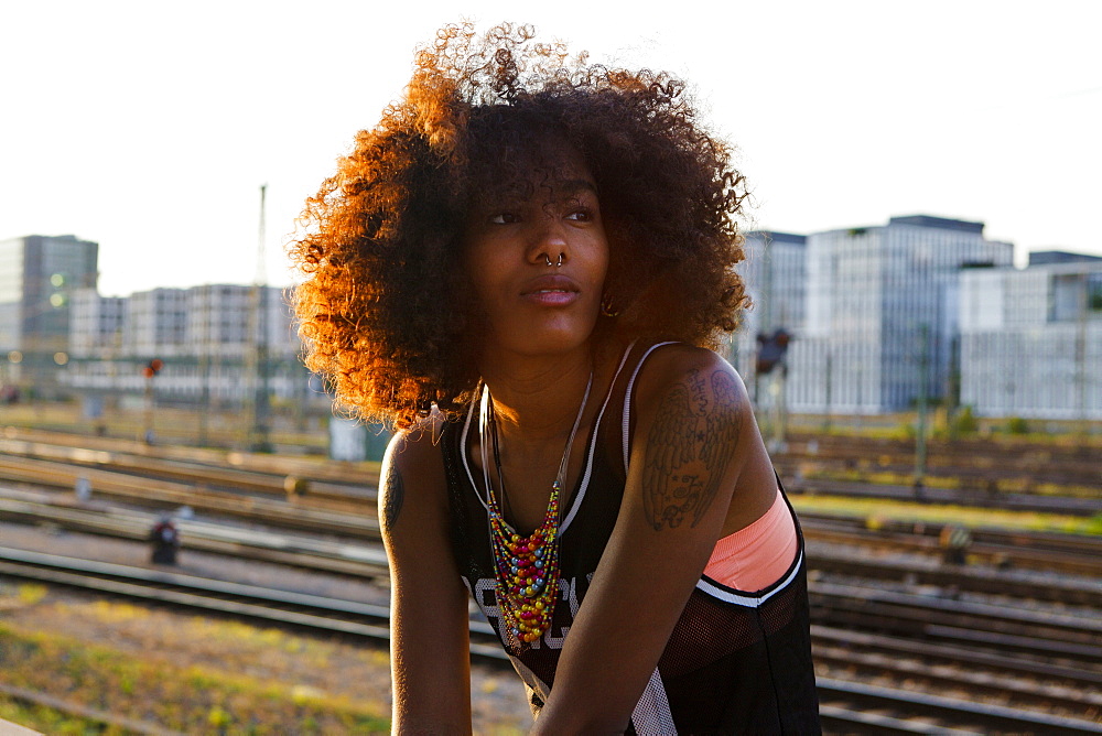
<svg viewBox="0 0 1102 736"><path fill-rule="evenodd" d="M501 513L505 476L501 473L497 421L494 418L489 387L483 386L478 432L483 477L486 481L486 509L489 515L490 548L494 552L494 570L497 577L497 605L501 610L503 626L510 649L523 649L526 645L539 639L551 626L551 616L559 594L560 498L566 466L570 464L570 450L574 444L577 427L582 423L582 414L585 413L592 387L593 374L590 372L582 405L577 410L574 426L566 440L566 447L559 463L559 473L551 485L551 497L548 499L543 522L531 534L523 535L511 529ZM494 446L494 465L497 468L501 501L498 500L497 494L494 493L494 484L490 483L486 457L486 446L489 443Z"/></svg>

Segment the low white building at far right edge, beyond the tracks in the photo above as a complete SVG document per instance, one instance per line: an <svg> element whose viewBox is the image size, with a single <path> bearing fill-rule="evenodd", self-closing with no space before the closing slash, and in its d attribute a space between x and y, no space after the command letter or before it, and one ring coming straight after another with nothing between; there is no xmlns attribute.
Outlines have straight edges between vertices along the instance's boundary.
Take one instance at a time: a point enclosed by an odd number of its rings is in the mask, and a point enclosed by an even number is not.
<svg viewBox="0 0 1102 736"><path fill-rule="evenodd" d="M1042 256L961 274L961 403L987 416L1100 420L1102 259Z"/></svg>

